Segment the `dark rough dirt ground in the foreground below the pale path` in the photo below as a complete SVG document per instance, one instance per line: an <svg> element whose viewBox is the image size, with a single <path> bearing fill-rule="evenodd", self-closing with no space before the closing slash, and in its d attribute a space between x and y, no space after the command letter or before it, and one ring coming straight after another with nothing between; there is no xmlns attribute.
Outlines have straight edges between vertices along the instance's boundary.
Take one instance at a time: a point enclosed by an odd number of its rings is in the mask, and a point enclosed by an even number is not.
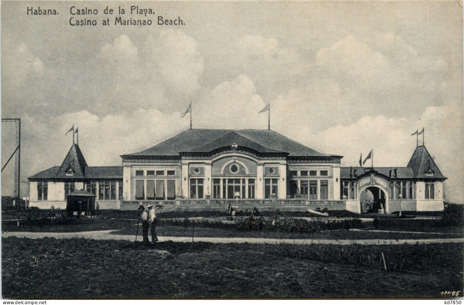
<svg viewBox="0 0 464 305"><path fill-rule="evenodd" d="M436 261L398 271L309 260L282 247L199 242L192 248L163 242L144 248L115 240L2 238L2 296L439 298L442 291L463 290L463 245L458 243L429 245L427 253L433 254L424 260Z"/></svg>

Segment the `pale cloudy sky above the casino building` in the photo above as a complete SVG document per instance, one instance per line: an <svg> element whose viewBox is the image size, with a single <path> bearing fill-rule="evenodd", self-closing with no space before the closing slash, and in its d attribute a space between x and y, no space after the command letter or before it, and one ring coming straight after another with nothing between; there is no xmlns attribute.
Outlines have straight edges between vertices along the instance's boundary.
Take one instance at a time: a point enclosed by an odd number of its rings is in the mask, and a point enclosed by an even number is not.
<svg viewBox="0 0 464 305"><path fill-rule="evenodd" d="M154 24L115 26L107 5L151 8L123 17ZM28 6L59 15L27 16ZM82 17L98 26L70 26L71 6L97 9ZM462 48L457 1L4 1L1 115L22 119L21 181L61 164L72 124L89 165L119 165L188 129L190 100L193 128L266 129L258 111L271 103L271 129L343 166L370 149L374 166L406 166L424 127L449 177L445 200L462 203ZM13 139L3 123L2 164ZM13 163L2 194L12 178Z"/></svg>

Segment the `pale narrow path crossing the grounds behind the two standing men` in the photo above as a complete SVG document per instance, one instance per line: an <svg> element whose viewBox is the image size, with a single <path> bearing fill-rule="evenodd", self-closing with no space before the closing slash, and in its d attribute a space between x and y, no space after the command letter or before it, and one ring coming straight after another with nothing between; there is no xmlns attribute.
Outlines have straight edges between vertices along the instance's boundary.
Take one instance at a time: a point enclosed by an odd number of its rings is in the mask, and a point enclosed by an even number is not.
<svg viewBox="0 0 464 305"><path fill-rule="evenodd" d="M61 238L86 238L94 240L129 240L135 241L135 235L116 235L110 234L116 230L105 230L105 231L87 231L87 232L73 232L73 233L48 233L48 232L2 232L2 237L16 236L19 238L44 238L54 237L57 239ZM140 239L139 239L140 238ZM139 236L138 240L141 240ZM172 240L176 242L192 242L191 237L173 237L173 236L158 236L160 241ZM448 238L448 239L424 239L424 240L303 240L303 239L271 239L271 238L220 238L220 237L195 237L194 241L205 241L212 243L250 243L250 244L334 244L334 245L349 245L349 244L361 244L361 245L382 245L382 244L432 244L432 243L449 243L449 242L464 242L464 238Z"/></svg>

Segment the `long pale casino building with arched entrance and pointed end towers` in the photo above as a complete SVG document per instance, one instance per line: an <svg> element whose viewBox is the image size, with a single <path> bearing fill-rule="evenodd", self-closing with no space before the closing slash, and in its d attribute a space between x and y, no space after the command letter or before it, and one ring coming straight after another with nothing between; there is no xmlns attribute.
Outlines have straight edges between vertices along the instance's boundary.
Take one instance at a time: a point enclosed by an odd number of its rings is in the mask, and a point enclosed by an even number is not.
<svg viewBox="0 0 464 305"><path fill-rule="evenodd" d="M272 130L190 129L128 155L122 166L88 166L72 144L61 166L29 177L30 206L65 208L84 189L100 209L171 208L349 210L356 213L443 210L446 179L425 146L406 167L341 167L342 156L318 152ZM362 192L373 202L360 201Z"/></svg>

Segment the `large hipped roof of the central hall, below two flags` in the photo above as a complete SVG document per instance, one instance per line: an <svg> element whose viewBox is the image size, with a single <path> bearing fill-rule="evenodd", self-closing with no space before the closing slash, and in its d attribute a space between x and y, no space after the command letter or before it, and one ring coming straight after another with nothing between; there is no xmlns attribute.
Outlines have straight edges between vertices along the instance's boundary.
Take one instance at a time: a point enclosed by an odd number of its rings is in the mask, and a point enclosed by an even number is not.
<svg viewBox="0 0 464 305"><path fill-rule="evenodd" d="M237 142L244 143L244 146L251 145L253 147L250 148L262 153L283 152L289 156L342 157L318 152L273 130L251 129L189 129L149 149L124 156L179 156L180 152L200 152L206 149L212 151Z"/></svg>

